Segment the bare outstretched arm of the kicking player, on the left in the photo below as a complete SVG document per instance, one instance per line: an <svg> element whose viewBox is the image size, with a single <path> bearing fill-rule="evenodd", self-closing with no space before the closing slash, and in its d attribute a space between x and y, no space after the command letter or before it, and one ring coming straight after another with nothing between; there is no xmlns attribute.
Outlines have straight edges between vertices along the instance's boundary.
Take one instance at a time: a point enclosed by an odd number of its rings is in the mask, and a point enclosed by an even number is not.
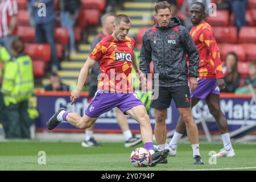
<svg viewBox="0 0 256 182"><path fill-rule="evenodd" d="M88 57L88 59L85 61L84 66L81 68L81 71L79 73L77 88L76 90L71 92L71 96L70 96L71 105L73 105L74 102L76 102L76 100L81 96L82 86L84 86L84 82L88 77L89 70L93 67L95 63L96 61L90 57Z"/></svg>

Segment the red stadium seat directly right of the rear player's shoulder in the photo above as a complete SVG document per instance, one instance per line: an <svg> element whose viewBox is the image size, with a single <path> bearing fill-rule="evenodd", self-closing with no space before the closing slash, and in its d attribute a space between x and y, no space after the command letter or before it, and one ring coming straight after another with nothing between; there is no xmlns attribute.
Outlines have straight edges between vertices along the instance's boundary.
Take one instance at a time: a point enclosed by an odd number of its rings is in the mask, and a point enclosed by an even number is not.
<svg viewBox="0 0 256 182"><path fill-rule="evenodd" d="M218 43L237 43L236 27L212 27Z"/></svg>

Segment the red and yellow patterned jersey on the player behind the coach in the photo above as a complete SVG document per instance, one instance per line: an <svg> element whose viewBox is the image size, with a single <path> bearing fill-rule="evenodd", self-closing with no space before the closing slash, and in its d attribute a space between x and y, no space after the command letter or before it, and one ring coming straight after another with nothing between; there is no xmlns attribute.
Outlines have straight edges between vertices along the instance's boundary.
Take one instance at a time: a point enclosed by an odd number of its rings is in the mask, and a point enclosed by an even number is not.
<svg viewBox="0 0 256 182"><path fill-rule="evenodd" d="M190 31L199 51L199 78L223 78L220 52L212 27L202 21Z"/></svg>

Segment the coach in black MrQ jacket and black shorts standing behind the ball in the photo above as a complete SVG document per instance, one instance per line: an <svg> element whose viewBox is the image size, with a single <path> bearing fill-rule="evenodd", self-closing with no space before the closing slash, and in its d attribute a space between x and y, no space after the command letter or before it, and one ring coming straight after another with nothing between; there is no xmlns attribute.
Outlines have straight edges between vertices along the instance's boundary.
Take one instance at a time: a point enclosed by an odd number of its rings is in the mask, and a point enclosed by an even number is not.
<svg viewBox="0 0 256 182"><path fill-rule="evenodd" d="M155 138L159 150L166 147L167 108L173 99L180 117L185 121L195 164L203 164L199 153L198 130L191 113L189 91L189 86L191 91L197 86L199 53L189 32L181 26L178 18L171 15L171 5L168 2L157 3L155 18L158 22L143 36L139 67L144 74L149 73L152 60L154 73L159 74L159 81L154 80L155 93L159 90L159 94L155 94L158 98L151 102L151 107L155 108ZM186 54L189 59L189 73ZM167 147L172 151L171 146ZM167 159L163 163L167 163Z"/></svg>

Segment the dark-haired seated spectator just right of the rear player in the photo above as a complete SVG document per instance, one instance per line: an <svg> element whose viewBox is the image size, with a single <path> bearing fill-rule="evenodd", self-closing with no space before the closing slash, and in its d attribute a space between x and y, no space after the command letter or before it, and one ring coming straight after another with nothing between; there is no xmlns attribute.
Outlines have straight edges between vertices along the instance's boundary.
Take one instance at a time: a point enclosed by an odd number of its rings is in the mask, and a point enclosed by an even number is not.
<svg viewBox="0 0 256 182"><path fill-rule="evenodd" d="M226 83L225 92L234 92L240 85L241 75L237 71L237 55L229 52L226 55L225 66L223 67L224 81Z"/></svg>

